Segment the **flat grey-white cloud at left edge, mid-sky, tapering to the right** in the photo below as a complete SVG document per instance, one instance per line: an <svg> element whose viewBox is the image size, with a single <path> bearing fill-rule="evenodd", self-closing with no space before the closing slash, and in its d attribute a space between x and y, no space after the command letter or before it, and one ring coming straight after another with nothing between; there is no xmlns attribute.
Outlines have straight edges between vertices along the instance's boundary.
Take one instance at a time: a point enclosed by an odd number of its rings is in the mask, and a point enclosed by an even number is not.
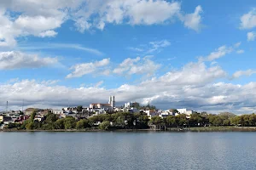
<svg viewBox="0 0 256 170"><path fill-rule="evenodd" d="M41 58L37 54L24 54L19 51L0 53L0 70L19 68L38 68L47 65L54 65L58 62L56 58Z"/></svg>

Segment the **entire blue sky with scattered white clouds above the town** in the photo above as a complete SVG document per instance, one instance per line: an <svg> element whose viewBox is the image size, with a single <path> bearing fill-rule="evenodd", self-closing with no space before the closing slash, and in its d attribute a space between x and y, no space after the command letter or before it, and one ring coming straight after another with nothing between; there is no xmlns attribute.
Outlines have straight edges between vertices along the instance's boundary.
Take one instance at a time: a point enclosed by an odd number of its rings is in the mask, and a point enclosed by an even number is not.
<svg viewBox="0 0 256 170"><path fill-rule="evenodd" d="M256 2L0 1L0 111L137 101L256 112Z"/></svg>

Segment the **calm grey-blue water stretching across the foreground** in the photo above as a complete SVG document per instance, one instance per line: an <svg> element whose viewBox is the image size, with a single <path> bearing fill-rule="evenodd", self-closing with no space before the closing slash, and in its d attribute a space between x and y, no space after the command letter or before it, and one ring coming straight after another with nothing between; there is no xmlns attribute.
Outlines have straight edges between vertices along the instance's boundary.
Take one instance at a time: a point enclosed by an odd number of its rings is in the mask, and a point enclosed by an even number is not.
<svg viewBox="0 0 256 170"><path fill-rule="evenodd" d="M256 133L2 132L0 169L256 169Z"/></svg>

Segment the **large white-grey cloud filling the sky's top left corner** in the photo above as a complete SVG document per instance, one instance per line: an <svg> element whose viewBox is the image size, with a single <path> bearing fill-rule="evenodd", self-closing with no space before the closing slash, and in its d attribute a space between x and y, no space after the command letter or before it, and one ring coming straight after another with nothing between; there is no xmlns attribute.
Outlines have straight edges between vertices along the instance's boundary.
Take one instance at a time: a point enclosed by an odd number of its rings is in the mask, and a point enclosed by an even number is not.
<svg viewBox="0 0 256 170"><path fill-rule="evenodd" d="M0 46L15 46L17 37L54 37L56 28L67 20L67 10L77 7L79 1L32 2L3 0L0 11ZM8 11L16 13L10 16Z"/></svg>

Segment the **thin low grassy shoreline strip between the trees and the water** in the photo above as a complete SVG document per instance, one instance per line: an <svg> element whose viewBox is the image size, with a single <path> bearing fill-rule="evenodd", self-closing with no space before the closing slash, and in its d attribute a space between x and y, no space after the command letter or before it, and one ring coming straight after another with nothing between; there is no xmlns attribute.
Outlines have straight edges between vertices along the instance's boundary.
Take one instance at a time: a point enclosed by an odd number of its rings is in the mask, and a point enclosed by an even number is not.
<svg viewBox="0 0 256 170"><path fill-rule="evenodd" d="M0 132L170 132L170 133L204 133L204 132L256 132L256 127L169 127L166 130L160 129L53 129L53 130L20 130L20 129L0 129Z"/></svg>

